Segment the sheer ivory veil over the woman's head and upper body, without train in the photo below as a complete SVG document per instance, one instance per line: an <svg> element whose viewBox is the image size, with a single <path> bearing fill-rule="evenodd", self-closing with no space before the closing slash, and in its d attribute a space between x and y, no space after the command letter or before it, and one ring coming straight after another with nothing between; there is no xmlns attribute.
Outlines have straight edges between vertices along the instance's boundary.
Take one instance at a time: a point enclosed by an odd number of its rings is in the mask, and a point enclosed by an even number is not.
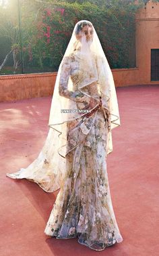
<svg viewBox="0 0 159 256"><path fill-rule="evenodd" d="M79 30L82 26L90 28L90 33L92 33L90 40L87 29L86 31ZM65 76L62 75L63 72L65 72ZM61 93L61 90L64 93ZM99 97L96 96L96 91L98 91ZM90 98L94 99L93 108L90 108L89 105ZM63 148L63 142L67 140L67 123L74 120L77 125L80 121L84 121L86 119L84 110L79 112L79 109L96 108L100 98L102 99L102 108L109 113L107 144L107 154L109 154L113 151L111 129L120 125L115 83L94 26L88 20L81 20L75 24L59 66L49 117L49 127L54 131L59 131L59 142L57 143L56 140L56 143L59 144L57 151L59 150L64 157L67 154L65 146Z"/></svg>

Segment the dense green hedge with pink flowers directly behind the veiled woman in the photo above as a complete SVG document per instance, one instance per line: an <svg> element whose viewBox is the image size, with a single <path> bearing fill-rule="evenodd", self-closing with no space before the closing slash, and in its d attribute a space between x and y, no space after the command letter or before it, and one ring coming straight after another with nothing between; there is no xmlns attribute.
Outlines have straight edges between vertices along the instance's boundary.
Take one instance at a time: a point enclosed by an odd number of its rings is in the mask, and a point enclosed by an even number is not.
<svg viewBox="0 0 159 256"><path fill-rule="evenodd" d="M90 1L69 2L71 1L48 1L44 5L36 3L27 6L24 2L24 63L27 62L29 66L38 63L41 71L45 66L49 71L57 70L75 23L86 19L94 24L111 68L135 66L136 5L129 4L121 8L121 5L117 5L117 0L114 0L106 8L105 4L97 5ZM28 22L23 15L26 8ZM34 16L33 9L36 10Z"/></svg>

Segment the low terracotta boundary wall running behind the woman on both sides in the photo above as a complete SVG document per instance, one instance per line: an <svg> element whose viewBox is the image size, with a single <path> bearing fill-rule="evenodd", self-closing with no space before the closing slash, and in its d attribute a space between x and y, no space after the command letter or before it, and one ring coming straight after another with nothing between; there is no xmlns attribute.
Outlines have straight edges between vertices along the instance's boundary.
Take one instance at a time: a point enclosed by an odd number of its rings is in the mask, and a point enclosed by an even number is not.
<svg viewBox="0 0 159 256"><path fill-rule="evenodd" d="M113 69L115 86L137 85L138 68ZM57 72L19 74L0 77L0 102L53 95Z"/></svg>

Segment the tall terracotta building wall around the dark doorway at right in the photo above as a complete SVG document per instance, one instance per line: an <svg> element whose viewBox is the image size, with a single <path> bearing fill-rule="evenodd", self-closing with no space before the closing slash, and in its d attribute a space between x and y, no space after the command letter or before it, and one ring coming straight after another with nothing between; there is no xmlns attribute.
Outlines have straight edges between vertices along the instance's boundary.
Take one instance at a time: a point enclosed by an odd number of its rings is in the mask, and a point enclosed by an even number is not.
<svg viewBox="0 0 159 256"><path fill-rule="evenodd" d="M136 60L140 84L151 81L151 49L159 49L159 3L149 1L136 15Z"/></svg>

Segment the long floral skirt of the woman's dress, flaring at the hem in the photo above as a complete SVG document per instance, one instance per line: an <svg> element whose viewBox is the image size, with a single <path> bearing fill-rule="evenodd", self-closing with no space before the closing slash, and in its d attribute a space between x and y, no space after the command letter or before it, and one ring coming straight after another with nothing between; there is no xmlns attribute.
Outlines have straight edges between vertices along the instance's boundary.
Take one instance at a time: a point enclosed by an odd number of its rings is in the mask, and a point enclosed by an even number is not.
<svg viewBox="0 0 159 256"><path fill-rule="evenodd" d="M77 237L80 244L96 251L123 241L106 171L107 131L98 110L85 142L66 156L67 171L44 230L57 239Z"/></svg>

